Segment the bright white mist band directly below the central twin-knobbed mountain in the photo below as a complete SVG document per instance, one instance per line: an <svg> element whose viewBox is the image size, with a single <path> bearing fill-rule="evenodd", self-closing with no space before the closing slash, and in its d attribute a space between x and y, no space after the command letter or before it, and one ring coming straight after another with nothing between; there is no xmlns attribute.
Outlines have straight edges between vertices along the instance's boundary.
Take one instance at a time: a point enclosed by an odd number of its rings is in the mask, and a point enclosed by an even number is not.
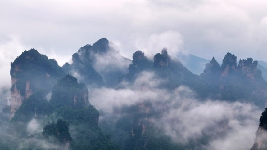
<svg viewBox="0 0 267 150"><path fill-rule="evenodd" d="M143 82L144 81L144 82ZM89 101L97 110L112 113L114 107L132 105L149 99L160 99L166 96L166 90L157 89L163 80L158 79L154 73L143 72L132 85L123 82L119 89L96 88L90 94Z"/></svg>

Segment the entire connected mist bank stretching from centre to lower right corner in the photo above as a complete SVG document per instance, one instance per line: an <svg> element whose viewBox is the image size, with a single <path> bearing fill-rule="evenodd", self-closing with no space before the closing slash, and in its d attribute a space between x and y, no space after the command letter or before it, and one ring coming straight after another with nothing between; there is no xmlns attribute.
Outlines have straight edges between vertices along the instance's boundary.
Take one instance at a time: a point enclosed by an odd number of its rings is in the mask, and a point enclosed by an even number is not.
<svg viewBox="0 0 267 150"><path fill-rule="evenodd" d="M199 100L186 86L175 90L159 88L160 80L152 72L142 72L133 84L123 82L124 88L96 88L89 101L101 112L99 122L111 124L124 116L117 108L149 101L161 117L154 118L157 130L163 130L174 143L186 144L192 140L210 137L200 145L207 150L250 149L262 112L249 103L223 100ZM110 118L111 116L116 116ZM112 121L114 121L112 123Z"/></svg>

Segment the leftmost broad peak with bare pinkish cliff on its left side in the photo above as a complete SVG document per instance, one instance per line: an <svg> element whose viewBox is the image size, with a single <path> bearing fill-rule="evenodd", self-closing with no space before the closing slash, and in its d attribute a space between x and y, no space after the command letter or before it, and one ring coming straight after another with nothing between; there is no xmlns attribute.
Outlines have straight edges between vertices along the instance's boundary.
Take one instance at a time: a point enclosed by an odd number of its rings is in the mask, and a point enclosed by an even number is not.
<svg viewBox="0 0 267 150"><path fill-rule="evenodd" d="M22 52L11 63L10 119L25 99L38 90L43 90L45 93L50 92L57 79L64 74L56 60L48 59L37 50L31 49Z"/></svg>

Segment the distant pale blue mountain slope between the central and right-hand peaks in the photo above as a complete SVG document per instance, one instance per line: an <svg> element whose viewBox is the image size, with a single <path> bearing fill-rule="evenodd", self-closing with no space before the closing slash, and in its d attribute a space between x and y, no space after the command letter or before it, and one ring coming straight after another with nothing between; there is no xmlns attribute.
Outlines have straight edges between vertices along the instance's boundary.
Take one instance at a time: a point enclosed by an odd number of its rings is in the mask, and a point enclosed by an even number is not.
<svg viewBox="0 0 267 150"><path fill-rule="evenodd" d="M176 57L188 70L198 75L203 72L205 65L210 62L210 60L183 52L180 52Z"/></svg>

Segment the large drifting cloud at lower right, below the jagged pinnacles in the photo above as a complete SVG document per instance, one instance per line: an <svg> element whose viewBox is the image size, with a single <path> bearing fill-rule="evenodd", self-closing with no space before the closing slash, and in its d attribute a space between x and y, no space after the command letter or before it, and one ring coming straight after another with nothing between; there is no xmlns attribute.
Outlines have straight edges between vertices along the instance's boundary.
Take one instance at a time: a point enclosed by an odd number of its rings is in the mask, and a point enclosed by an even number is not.
<svg viewBox="0 0 267 150"><path fill-rule="evenodd" d="M241 150L252 146L261 113L256 106L219 100L199 101L188 98L191 92L185 92L184 88L187 87L176 89L174 99L165 103L164 116L157 121L173 141L186 143L208 135L212 137L209 149L231 149L238 145L234 149Z"/></svg>

